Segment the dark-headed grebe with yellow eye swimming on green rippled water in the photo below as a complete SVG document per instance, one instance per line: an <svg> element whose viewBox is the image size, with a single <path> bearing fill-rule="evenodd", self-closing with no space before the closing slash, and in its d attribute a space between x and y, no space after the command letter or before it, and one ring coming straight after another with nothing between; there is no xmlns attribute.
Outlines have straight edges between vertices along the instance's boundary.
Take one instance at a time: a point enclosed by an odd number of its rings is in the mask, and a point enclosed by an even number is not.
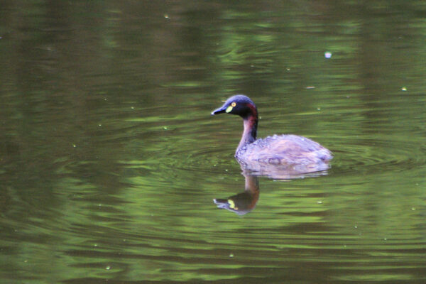
<svg viewBox="0 0 426 284"><path fill-rule="evenodd" d="M268 165L309 165L305 171L324 170L333 158L332 153L319 143L296 135L274 135L256 139L258 112L253 101L242 94L226 100L214 114L237 114L243 118L244 131L235 158L239 163ZM318 167L318 165L320 165ZM254 168L254 167L249 167Z"/></svg>

